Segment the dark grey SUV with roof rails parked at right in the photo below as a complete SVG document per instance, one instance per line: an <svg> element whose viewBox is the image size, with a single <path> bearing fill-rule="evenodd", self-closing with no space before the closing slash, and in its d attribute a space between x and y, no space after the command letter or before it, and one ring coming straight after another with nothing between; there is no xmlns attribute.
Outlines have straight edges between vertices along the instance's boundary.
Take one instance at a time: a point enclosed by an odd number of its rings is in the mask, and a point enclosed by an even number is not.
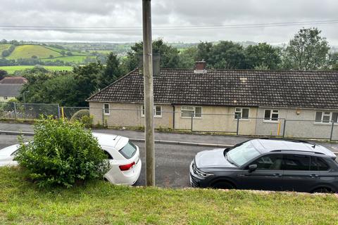
<svg viewBox="0 0 338 225"><path fill-rule="evenodd" d="M335 159L327 148L306 141L253 139L197 153L190 183L202 188L337 192Z"/></svg>

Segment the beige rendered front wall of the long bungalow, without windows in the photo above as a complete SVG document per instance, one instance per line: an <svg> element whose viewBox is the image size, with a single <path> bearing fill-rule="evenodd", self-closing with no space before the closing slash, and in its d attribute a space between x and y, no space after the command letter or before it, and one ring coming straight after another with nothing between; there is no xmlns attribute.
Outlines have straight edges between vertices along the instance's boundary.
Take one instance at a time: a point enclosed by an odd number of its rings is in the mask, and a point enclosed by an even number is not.
<svg viewBox="0 0 338 225"><path fill-rule="evenodd" d="M104 103L89 103L90 113L94 115L94 124L102 124L104 121L104 124L108 125L108 127L144 127L142 104L109 104L110 115L104 115L104 120L102 120ZM173 105L161 105L162 116L154 119L156 128L173 129L175 120L175 129L231 133L236 133L237 131L234 107L202 106L202 116L194 117L192 120L191 117L182 117L181 106L175 105L175 113L173 113ZM332 124L314 122L316 110L275 108L275 110L279 110L280 119L266 121L263 120L265 109L270 108L250 108L249 119L239 120L239 134L282 136L283 131L285 131L285 137L330 139ZM287 122L284 130L285 119ZM338 123L334 125L332 138L338 140Z"/></svg>

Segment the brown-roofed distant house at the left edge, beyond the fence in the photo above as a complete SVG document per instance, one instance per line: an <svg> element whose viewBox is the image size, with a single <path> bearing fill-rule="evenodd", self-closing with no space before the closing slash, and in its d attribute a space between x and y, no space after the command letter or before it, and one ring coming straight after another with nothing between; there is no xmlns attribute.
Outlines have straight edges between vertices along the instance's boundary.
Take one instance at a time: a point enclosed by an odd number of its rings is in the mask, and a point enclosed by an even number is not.
<svg viewBox="0 0 338 225"><path fill-rule="evenodd" d="M0 102L15 99L20 94L23 84L27 83L24 77L5 77L0 80Z"/></svg>

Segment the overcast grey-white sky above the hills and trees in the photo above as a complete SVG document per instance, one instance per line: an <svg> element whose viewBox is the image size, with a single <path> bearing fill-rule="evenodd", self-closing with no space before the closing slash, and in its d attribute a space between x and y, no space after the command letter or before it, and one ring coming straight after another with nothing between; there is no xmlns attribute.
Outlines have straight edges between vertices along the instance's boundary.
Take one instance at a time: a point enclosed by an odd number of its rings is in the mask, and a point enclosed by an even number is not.
<svg viewBox="0 0 338 225"><path fill-rule="evenodd" d="M141 27L142 0L0 0L0 26ZM338 20L337 0L153 0L154 27L242 25ZM169 42L289 41L301 27L318 27L331 45L338 45L338 23L215 30L154 30L153 38ZM0 39L25 41L142 40L139 30L34 31L0 30Z"/></svg>

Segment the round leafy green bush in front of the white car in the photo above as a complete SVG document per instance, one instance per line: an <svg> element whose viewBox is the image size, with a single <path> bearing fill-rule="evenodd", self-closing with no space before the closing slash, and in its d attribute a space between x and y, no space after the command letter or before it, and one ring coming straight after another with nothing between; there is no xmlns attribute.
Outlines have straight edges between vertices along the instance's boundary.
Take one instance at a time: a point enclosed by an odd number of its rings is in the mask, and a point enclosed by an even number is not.
<svg viewBox="0 0 338 225"><path fill-rule="evenodd" d="M15 155L39 186L71 187L89 179L100 179L110 167L104 151L92 132L79 122L52 120L35 124L34 141L24 143Z"/></svg>

